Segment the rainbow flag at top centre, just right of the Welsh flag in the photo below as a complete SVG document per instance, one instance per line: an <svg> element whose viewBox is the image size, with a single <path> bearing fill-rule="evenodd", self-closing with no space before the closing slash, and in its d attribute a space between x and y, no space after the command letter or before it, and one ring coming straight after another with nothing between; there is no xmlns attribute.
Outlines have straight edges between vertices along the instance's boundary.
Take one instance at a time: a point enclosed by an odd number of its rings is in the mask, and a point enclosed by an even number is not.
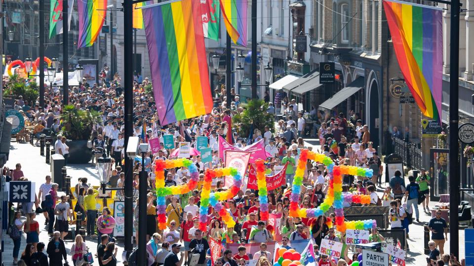
<svg viewBox="0 0 474 266"><path fill-rule="evenodd" d="M247 0L219 0L227 33L234 43L247 46Z"/></svg>

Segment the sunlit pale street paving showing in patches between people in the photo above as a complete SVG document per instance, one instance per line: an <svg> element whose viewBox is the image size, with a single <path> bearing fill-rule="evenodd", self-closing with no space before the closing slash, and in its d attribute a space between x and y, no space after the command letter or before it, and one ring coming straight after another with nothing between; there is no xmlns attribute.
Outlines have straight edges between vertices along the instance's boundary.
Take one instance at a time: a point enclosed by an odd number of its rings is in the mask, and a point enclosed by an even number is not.
<svg viewBox="0 0 474 266"><path fill-rule="evenodd" d="M314 146L314 151L318 147L318 141L316 139L308 139L308 142L305 143L307 146ZM40 148L32 146L29 143L17 143L11 142L10 148L10 156L9 161L7 162L6 166L10 169L15 167L15 164L21 163L22 171L31 181L37 182L36 190L37 193L39 191L40 184L44 182L44 177L50 174L50 166L45 163L45 157L40 156ZM67 173L72 177L71 186L77 184L77 180L79 177L87 177L88 183L91 185L99 185L99 179L97 176L97 170L94 166L91 165L72 165L67 166ZM384 173L385 174L385 173ZM406 182L408 184L408 178L406 178ZM388 184L386 184L388 185ZM385 185L383 185L385 187ZM377 193L379 196L382 196L383 190L382 188L377 188ZM435 206L436 202L430 202L430 208ZM410 225L410 238L407 239L407 243L409 246L409 251L407 251L406 256L406 264L407 265L426 265L426 255L424 254L424 225L427 225L429 220L431 219L431 213L425 213L422 210L422 206L419 206L420 209L420 223L414 221L412 225ZM415 217L414 217L415 218ZM47 244L49 241L49 236L47 234L47 230L45 229L44 225L44 216L38 215L37 220L40 223L40 241ZM449 233L448 233L449 239ZM12 251L13 251L13 241L11 238L5 234L3 231L3 240L4 240L4 250L3 250L3 264L5 266L12 265L13 258L12 258ZM26 235L23 235L21 241L21 248L20 248L20 255L21 252L25 249L26 246ZM86 237L85 239L86 245L89 248L89 251L92 254L95 254L96 247L97 247L97 240L91 239ZM459 232L459 254L460 259L464 258L464 231L461 230ZM66 240L66 249L69 254L69 249L72 247L73 241ZM122 265L121 254L123 252L123 241L118 240L118 265ZM445 253L449 253L449 241L445 243L444 246ZM71 263L71 256L68 255L68 261ZM72 265L72 263L71 263ZM94 258L94 264L98 265L97 259Z"/></svg>

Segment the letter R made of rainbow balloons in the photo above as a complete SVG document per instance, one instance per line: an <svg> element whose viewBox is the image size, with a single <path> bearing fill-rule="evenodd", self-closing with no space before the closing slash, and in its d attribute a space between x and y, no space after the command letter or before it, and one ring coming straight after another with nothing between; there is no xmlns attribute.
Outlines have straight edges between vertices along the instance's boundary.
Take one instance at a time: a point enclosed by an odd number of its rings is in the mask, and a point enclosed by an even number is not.
<svg viewBox="0 0 474 266"><path fill-rule="evenodd" d="M230 175L234 178L234 185L229 190L211 193L212 179L220 176ZM234 167L207 169L204 173L204 185L201 191L201 206L199 207L199 229L202 231L206 230L207 226L207 212L209 211L209 205L211 205L215 211L222 217L222 221L228 227L234 227L236 222L232 218L231 214L224 208L219 201L232 199L237 195L237 192L242 186L242 175Z"/></svg>

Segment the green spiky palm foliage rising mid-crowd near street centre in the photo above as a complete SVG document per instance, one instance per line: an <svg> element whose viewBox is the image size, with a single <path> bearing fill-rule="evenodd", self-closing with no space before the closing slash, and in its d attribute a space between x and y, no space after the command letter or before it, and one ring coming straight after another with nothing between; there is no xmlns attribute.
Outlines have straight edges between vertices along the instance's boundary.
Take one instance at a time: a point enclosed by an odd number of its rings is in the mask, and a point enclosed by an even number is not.
<svg viewBox="0 0 474 266"><path fill-rule="evenodd" d="M267 113L268 102L259 99L252 99L242 104L243 112L234 115L233 125L237 126L237 133L242 137L247 137L253 125L253 130L259 129L262 134L265 126L270 130L275 127L275 117ZM252 133L253 134L253 133Z"/></svg>

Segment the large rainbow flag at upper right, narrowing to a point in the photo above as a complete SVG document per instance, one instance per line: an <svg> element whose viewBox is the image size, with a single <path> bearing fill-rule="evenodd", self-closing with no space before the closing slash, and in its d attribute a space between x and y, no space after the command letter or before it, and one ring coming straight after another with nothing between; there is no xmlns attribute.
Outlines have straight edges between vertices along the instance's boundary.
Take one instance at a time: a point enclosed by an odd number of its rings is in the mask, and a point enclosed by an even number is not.
<svg viewBox="0 0 474 266"><path fill-rule="evenodd" d="M384 0L395 55L423 115L441 120L443 29L441 8Z"/></svg>

